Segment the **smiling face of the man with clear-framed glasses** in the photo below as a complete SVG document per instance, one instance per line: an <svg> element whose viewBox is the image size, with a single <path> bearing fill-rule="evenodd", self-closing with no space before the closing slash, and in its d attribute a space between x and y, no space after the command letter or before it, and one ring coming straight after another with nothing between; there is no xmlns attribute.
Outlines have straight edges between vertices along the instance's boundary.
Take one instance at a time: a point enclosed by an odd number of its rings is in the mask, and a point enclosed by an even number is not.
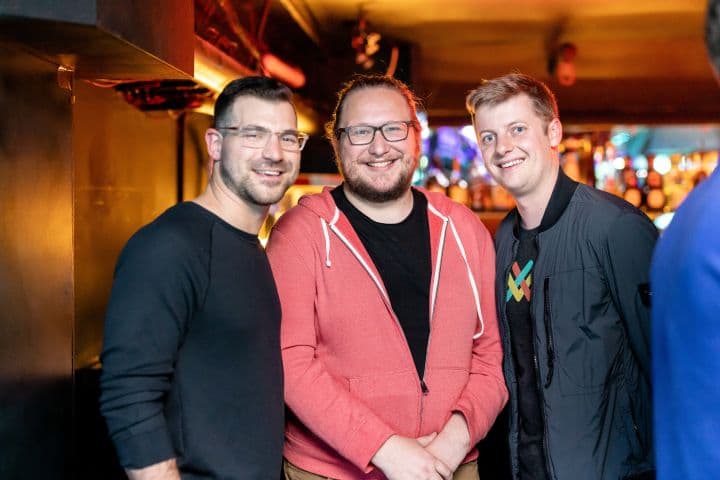
<svg viewBox="0 0 720 480"><path fill-rule="evenodd" d="M255 126L271 132L297 129L291 104L251 96L238 97L224 123L227 125L220 126ZM211 181L250 207L267 207L280 201L297 178L300 152L282 150L275 134L264 148L250 148L241 145L240 138L232 131L212 131L208 144L214 162Z"/></svg>

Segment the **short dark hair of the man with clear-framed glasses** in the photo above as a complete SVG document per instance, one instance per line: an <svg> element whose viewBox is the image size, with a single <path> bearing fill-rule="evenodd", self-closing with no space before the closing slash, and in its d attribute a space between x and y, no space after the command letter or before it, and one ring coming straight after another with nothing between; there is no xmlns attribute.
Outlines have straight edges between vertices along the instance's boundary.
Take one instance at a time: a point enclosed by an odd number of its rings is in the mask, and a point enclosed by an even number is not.
<svg viewBox="0 0 720 480"><path fill-rule="evenodd" d="M238 78L228 83L215 101L213 127L227 121L231 107L239 97L256 97L273 102L287 102L295 108L292 91L284 83L268 77Z"/></svg>

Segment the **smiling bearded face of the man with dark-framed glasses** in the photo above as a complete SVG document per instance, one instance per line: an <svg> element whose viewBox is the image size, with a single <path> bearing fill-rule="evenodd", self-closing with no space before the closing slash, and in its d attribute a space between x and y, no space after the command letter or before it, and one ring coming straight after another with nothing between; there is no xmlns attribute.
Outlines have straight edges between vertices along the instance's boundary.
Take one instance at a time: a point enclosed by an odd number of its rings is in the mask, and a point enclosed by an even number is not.
<svg viewBox="0 0 720 480"><path fill-rule="evenodd" d="M338 127L379 127L408 120L417 119L400 92L384 86L367 87L348 94ZM414 127L410 127L405 140L397 142L388 142L379 130L367 145L352 145L345 133L337 142L340 173L350 196L381 203L409 194L420 153L419 135Z"/></svg>

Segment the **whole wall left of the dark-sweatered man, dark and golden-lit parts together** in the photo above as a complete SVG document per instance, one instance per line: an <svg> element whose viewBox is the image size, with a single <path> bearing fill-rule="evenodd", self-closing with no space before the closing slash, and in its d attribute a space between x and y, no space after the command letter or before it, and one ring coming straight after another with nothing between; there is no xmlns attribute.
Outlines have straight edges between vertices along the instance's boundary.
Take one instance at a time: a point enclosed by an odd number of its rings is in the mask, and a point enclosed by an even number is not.
<svg viewBox="0 0 720 480"><path fill-rule="evenodd" d="M120 478L93 368L115 261L207 177L209 117L144 113L79 80L71 103L56 69L0 45L3 480Z"/></svg>

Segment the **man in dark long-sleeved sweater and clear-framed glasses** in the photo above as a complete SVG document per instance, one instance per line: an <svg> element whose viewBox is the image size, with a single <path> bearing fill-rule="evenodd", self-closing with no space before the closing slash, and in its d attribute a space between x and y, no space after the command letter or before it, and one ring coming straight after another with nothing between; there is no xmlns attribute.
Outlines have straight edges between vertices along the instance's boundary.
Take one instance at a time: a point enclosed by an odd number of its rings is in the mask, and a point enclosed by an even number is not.
<svg viewBox="0 0 720 480"><path fill-rule="evenodd" d="M306 139L285 85L230 83L205 134L206 190L120 254L100 404L131 480L280 475L280 304L257 233Z"/></svg>

